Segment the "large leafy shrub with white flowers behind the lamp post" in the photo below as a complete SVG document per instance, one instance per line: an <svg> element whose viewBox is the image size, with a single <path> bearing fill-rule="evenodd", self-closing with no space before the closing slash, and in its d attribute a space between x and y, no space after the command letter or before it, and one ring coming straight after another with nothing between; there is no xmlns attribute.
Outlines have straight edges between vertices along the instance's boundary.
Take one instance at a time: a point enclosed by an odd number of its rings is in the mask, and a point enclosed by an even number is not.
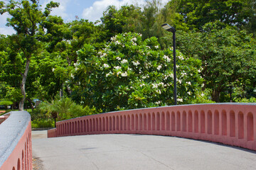
<svg viewBox="0 0 256 170"><path fill-rule="evenodd" d="M73 99L102 111L168 106L174 103L172 49L160 50L157 38L124 33L104 49L84 45L73 72ZM201 94L201 61L176 52L178 103ZM75 85L74 85L75 84Z"/></svg>

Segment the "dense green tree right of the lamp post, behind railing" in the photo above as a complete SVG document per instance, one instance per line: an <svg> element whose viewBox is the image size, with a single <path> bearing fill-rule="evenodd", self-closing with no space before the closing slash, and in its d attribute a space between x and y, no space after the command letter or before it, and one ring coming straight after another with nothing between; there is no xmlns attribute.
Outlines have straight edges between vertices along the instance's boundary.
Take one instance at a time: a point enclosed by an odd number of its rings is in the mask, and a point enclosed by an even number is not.
<svg viewBox="0 0 256 170"><path fill-rule="evenodd" d="M220 102L220 94L232 93L235 87L255 95L256 51L252 34L215 22L203 26L202 33L178 32L177 41L181 52L202 61L201 74L206 88L212 90L213 101Z"/></svg>

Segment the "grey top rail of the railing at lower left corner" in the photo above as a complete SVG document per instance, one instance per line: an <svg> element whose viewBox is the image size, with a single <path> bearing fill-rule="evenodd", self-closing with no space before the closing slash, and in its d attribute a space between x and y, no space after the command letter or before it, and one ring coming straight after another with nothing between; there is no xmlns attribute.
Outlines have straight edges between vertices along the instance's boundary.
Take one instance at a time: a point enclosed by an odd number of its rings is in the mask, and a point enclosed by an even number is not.
<svg viewBox="0 0 256 170"><path fill-rule="evenodd" d="M18 144L25 132L31 115L26 111L11 112L9 118L0 125L0 167Z"/></svg>

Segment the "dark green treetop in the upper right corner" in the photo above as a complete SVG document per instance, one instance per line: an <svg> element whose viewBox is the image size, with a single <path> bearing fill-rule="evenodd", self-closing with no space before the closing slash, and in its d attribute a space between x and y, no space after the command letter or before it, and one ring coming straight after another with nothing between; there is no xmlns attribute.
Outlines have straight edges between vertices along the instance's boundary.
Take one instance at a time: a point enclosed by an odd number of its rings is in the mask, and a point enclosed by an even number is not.
<svg viewBox="0 0 256 170"><path fill-rule="evenodd" d="M255 21L254 0L175 0L169 4L177 4L176 13L183 16L183 21L193 29L201 30L206 23L220 21L229 26L242 28Z"/></svg>

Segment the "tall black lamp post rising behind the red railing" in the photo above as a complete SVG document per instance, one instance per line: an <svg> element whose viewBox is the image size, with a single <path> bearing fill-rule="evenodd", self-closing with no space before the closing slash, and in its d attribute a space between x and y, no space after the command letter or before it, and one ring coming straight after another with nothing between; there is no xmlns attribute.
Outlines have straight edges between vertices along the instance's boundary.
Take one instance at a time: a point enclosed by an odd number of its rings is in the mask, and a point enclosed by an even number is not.
<svg viewBox="0 0 256 170"><path fill-rule="evenodd" d="M162 26L165 30L173 33L173 41L174 41L174 105L177 105L177 85L176 85L176 36L175 36L175 28L172 26L169 26L168 23L164 23Z"/></svg>

